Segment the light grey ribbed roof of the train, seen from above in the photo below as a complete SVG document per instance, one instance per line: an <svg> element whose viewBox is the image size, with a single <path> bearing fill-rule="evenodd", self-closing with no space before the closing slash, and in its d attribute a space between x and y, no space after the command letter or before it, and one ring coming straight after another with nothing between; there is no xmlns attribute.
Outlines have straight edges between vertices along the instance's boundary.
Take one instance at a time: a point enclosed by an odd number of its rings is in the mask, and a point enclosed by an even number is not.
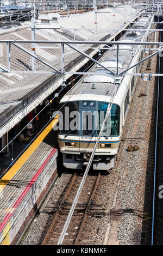
<svg viewBox="0 0 163 256"><path fill-rule="evenodd" d="M140 22L136 22L134 27L141 25ZM146 26L147 27L147 26ZM140 26L141 28L141 26ZM141 41L145 35L145 31L140 31L139 33L126 32L119 41L122 42L137 42ZM118 67L119 72L126 70L130 63L133 60L133 54L136 52L137 45L121 45L120 51L118 55ZM106 53L101 60L99 60L101 64L103 64L106 68L109 68L112 71L116 71L116 46L112 46L110 51ZM62 99L61 102L67 101L70 99L73 100L86 100L88 99L87 95L92 95L92 97L103 100L105 96L111 96L114 92L115 83L114 83L114 75L111 72L106 71L105 69L101 68L100 65L96 65L91 69L91 72L95 74L85 75ZM123 80L123 78L122 78ZM92 86L95 84L94 86ZM121 85L121 83L120 83ZM120 88L118 86L118 89ZM94 88L95 87L95 88ZM118 92L117 89L117 92ZM72 96L73 95L73 96ZM100 98L99 95L102 97ZM83 98L82 98L83 97ZM106 98L105 98L106 99ZM90 100L92 100L90 98ZM109 97L108 97L109 100Z"/></svg>

